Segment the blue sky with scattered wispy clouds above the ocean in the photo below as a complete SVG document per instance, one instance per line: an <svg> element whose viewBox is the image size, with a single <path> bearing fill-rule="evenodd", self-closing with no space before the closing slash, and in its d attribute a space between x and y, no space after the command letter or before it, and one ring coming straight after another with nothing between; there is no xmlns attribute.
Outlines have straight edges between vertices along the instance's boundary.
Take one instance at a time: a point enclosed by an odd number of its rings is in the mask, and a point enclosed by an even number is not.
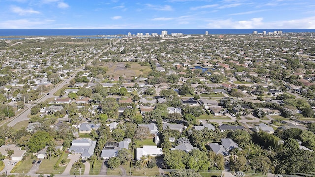
<svg viewBox="0 0 315 177"><path fill-rule="evenodd" d="M0 28L315 29L315 0L0 0Z"/></svg>

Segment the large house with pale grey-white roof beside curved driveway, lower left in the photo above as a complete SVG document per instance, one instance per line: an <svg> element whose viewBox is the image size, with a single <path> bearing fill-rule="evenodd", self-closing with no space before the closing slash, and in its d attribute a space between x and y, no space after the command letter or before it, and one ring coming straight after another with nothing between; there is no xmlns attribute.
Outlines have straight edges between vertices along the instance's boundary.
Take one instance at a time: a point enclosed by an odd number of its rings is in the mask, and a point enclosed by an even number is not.
<svg viewBox="0 0 315 177"><path fill-rule="evenodd" d="M81 154L82 158L89 158L93 155L96 142L90 139L72 140L69 151Z"/></svg>

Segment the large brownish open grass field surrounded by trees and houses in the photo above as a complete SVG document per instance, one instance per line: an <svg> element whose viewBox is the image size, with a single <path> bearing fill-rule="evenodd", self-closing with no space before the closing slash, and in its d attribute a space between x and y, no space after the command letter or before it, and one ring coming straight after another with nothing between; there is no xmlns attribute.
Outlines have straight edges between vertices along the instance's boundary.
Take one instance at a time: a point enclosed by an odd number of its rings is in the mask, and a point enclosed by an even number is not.
<svg viewBox="0 0 315 177"><path fill-rule="evenodd" d="M131 65L130 68L126 68L125 64L125 62L106 62L104 64L104 66L108 68L106 74L109 76L114 75L133 77L139 76L140 74L147 76L148 73L151 71L150 66L141 66L137 62L129 62L129 64Z"/></svg>

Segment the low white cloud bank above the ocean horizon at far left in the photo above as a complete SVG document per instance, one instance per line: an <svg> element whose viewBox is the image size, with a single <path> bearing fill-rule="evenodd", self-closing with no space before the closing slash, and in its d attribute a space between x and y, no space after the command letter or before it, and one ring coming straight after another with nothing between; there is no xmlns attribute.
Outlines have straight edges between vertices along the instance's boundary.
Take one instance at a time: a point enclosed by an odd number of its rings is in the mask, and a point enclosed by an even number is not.
<svg viewBox="0 0 315 177"><path fill-rule="evenodd" d="M42 25L49 24L54 20L28 20L28 19L18 19L18 20L7 20L0 22L0 28L8 29L29 29L29 28L43 28Z"/></svg>

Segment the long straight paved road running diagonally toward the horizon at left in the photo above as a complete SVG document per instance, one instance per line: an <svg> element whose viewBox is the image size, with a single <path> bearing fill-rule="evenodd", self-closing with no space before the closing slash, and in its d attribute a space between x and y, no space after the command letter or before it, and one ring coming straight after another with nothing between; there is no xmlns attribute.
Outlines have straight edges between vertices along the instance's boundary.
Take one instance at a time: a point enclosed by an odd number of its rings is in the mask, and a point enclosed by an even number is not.
<svg viewBox="0 0 315 177"><path fill-rule="evenodd" d="M120 39L118 39L117 41L115 41L113 43L113 45L115 45L117 42L119 42ZM100 52L98 55L95 56L94 59L98 59L99 56L101 56L104 52L106 52L107 50L109 50L110 47L104 49L102 52ZM87 65L91 65L93 60L90 60L87 62ZM84 69L84 66L78 68L74 73L72 73L72 75L64 80L62 80L56 87L54 87L52 90L50 90L47 94L44 94L40 99L36 100L33 102L33 104L37 104L39 102L42 102L42 101L45 101L49 98L56 98L57 96L54 96L54 93L56 93L59 89L63 88L65 85L68 85L69 82L74 79L75 75L77 74L77 72L79 71L83 71ZM29 106L28 106L29 105ZM17 115L10 123L7 124L7 126L14 126L15 124L17 124L18 122L21 122L21 121L25 121L25 120L29 120L28 118L28 115L31 114L31 109L32 109L32 106L30 104L26 105L26 107L24 108L24 110L19 114Z"/></svg>

